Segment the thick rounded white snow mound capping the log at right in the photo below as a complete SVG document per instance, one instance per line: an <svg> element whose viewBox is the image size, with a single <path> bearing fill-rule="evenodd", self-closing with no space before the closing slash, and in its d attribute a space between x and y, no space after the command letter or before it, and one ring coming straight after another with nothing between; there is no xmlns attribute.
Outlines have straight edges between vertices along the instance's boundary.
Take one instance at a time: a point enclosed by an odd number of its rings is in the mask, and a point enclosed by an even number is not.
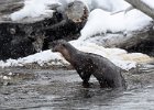
<svg viewBox="0 0 154 110"><path fill-rule="evenodd" d="M90 12L88 21L81 30L79 40L84 41L97 34L105 34L110 32L123 32L141 30L148 25L152 19L139 10L132 10L124 14L124 12L111 14L101 9L96 9Z"/></svg>

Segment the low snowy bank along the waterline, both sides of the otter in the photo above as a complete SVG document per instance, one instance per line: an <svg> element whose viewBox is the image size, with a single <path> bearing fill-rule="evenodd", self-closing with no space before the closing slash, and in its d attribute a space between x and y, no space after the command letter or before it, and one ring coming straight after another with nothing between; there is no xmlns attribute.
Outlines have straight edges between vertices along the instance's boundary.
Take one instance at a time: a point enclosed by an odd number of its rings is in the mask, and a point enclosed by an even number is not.
<svg viewBox="0 0 154 110"><path fill-rule="evenodd" d="M109 58L117 66L129 70L131 68L135 68L138 63L148 63L152 62L153 58L148 57L147 55L141 53L132 53L128 54L127 51L120 48L105 48L102 46L98 46L94 43L81 43L79 41L72 41L76 48L102 55L103 57ZM19 58L19 59L8 59L6 63L0 62L0 67L14 67L14 66L25 66L26 64L36 63L40 66L44 65L68 65L69 63L66 62L59 53L52 53L50 50L44 51L41 53L36 53L34 55L30 55L28 57Z"/></svg>

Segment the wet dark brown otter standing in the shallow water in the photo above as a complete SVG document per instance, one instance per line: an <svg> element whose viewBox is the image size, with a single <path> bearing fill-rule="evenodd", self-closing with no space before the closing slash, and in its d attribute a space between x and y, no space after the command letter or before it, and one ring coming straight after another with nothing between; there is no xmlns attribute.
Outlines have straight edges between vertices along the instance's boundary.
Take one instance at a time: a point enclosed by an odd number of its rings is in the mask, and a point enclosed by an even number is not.
<svg viewBox="0 0 154 110"><path fill-rule="evenodd" d="M94 75L103 88L125 88L121 68L117 67L103 56L78 51L64 40L54 43L53 52L59 52L64 58L76 69L84 86L89 86L90 76Z"/></svg>

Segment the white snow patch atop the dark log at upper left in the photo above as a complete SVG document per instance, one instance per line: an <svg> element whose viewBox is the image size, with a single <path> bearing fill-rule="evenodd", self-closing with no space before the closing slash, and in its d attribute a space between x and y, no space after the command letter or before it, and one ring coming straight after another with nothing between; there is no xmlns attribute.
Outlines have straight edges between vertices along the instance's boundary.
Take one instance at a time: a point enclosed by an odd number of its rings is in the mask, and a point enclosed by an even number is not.
<svg viewBox="0 0 154 110"><path fill-rule="evenodd" d="M22 20L24 18L38 18L41 15L52 16L53 10L51 4L61 4L58 0L25 0L23 9L10 15L12 21Z"/></svg>

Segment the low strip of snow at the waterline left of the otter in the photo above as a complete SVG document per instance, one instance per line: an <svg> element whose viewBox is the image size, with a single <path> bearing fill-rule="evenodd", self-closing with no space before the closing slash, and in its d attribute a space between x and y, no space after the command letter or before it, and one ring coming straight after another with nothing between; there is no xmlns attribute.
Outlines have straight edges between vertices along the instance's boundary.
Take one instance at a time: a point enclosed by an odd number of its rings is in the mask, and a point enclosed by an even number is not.
<svg viewBox="0 0 154 110"><path fill-rule="evenodd" d="M63 65L68 64L59 53L52 53L50 50L34 55L29 55L19 59L0 61L0 67L24 66L26 64L36 63L40 66L46 65Z"/></svg>

